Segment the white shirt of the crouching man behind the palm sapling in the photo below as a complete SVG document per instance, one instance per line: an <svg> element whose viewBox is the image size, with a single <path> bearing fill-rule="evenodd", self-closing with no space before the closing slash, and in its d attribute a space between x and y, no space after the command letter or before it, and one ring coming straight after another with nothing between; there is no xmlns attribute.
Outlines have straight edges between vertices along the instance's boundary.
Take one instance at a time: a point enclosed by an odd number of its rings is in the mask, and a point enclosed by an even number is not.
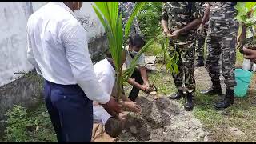
<svg viewBox="0 0 256 144"><path fill-rule="evenodd" d="M115 82L115 70L110 62L105 58L94 65L94 72L98 78L98 82L107 94L112 93ZM105 125L106 121L110 118L110 114L101 106L94 104L94 122L101 122Z"/></svg>

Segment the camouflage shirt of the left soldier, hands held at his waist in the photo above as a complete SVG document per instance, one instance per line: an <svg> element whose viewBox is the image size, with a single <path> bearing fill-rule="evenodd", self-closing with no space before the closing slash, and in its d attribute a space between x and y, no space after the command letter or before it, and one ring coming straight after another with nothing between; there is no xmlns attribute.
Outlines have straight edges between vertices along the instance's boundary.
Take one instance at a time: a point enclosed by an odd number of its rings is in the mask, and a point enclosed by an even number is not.
<svg viewBox="0 0 256 144"><path fill-rule="evenodd" d="M168 22L170 31L181 29L194 19L202 18L202 8L199 2L163 2L162 19ZM191 41L196 34L196 28L181 34L178 40L181 42Z"/></svg>

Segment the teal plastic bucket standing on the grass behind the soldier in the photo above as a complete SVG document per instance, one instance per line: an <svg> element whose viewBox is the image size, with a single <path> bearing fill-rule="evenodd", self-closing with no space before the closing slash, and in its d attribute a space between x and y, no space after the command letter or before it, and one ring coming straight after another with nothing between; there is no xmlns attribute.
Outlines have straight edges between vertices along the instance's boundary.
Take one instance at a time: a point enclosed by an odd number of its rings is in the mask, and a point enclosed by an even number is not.
<svg viewBox="0 0 256 144"><path fill-rule="evenodd" d="M244 97L250 86L252 73L248 70L236 69L234 74L235 81L237 82L237 86L234 87L235 97Z"/></svg>

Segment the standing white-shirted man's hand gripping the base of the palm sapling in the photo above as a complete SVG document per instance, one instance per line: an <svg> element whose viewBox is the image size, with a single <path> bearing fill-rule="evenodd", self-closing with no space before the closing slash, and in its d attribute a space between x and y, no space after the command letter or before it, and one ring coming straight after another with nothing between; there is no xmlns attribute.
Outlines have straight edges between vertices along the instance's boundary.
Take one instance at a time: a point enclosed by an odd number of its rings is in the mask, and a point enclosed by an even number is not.
<svg viewBox="0 0 256 144"><path fill-rule="evenodd" d="M106 102L106 104L102 104L104 109L112 115L114 118L117 117L117 114L122 112L122 106L115 101L115 98L110 97L110 101Z"/></svg>

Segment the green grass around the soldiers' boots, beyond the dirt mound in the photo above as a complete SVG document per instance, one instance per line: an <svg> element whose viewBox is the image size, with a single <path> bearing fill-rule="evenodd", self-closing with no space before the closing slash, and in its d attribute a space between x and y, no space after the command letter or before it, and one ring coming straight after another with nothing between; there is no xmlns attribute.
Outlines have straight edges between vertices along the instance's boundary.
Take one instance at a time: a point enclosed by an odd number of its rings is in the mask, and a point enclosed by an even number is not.
<svg viewBox="0 0 256 144"><path fill-rule="evenodd" d="M152 54L154 51L158 51L158 45L152 46ZM150 54L150 53L149 53ZM237 51L237 66L242 66L243 56ZM157 64L157 67L161 67L162 64ZM158 94L168 96L176 92L174 81L171 75L165 70L165 66L159 74L150 74L150 82L155 81L155 86L158 87ZM218 96L207 96L200 94L199 90L202 90L200 86L197 86L197 90L194 97L194 118L198 118L204 128L210 132L210 141L212 142L255 142L256 141L256 97L254 96L255 79L251 82L250 90L246 98L235 98L235 104L230 106L226 110L215 110L214 102L218 101ZM178 101L180 105L184 100ZM235 127L242 130L244 134L234 135L229 131L229 127Z"/></svg>

